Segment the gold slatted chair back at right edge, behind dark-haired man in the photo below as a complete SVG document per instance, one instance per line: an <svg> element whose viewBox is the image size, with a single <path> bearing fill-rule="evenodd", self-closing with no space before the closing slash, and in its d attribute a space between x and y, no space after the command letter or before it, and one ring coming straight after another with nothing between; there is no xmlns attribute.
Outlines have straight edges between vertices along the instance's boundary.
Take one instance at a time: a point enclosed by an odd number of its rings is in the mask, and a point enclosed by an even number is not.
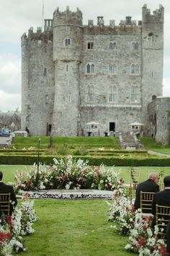
<svg viewBox="0 0 170 256"><path fill-rule="evenodd" d="M156 205L156 225L162 231L159 232L161 237L166 236L166 226L170 220L170 206Z"/></svg>

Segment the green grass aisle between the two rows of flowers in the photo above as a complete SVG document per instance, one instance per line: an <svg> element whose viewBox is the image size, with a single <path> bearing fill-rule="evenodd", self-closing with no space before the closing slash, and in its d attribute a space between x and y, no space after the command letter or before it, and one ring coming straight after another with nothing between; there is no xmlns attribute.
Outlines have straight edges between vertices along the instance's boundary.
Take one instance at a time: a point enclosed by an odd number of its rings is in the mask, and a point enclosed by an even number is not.
<svg viewBox="0 0 170 256"><path fill-rule="evenodd" d="M105 200L35 200L35 234L23 256L130 256L128 237L109 228Z"/></svg>

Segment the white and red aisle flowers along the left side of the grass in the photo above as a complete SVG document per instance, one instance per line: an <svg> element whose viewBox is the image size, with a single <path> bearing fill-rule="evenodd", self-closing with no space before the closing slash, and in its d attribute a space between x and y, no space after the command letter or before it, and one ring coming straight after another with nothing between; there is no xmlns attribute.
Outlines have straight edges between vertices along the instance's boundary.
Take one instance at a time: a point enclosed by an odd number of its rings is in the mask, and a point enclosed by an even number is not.
<svg viewBox="0 0 170 256"><path fill-rule="evenodd" d="M32 223L37 219L33 201L24 200L20 207L14 209L12 216L1 219L0 223L0 255L12 256L12 252L24 251L22 235L34 232Z"/></svg>

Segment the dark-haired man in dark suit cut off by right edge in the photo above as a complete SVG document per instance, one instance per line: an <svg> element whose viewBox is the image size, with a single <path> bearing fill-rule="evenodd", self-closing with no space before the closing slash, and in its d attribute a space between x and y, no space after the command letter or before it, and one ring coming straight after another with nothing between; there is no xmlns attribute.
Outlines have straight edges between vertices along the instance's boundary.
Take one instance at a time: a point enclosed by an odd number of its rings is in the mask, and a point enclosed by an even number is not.
<svg viewBox="0 0 170 256"><path fill-rule="evenodd" d="M170 175L164 178L165 189L153 195L152 214L156 215L156 205L170 206Z"/></svg>

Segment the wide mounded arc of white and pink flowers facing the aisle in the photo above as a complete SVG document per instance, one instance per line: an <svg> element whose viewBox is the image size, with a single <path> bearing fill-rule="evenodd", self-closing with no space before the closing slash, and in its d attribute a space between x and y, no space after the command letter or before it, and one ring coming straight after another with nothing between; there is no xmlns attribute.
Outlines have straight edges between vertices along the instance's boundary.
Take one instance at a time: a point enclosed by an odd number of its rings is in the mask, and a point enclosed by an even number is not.
<svg viewBox="0 0 170 256"><path fill-rule="evenodd" d="M123 181L112 168L89 166L88 161L73 160L71 155L60 161L53 160L54 164L50 166L40 164L38 171L34 164L31 171L18 173L15 176L17 192L36 189L123 190Z"/></svg>

